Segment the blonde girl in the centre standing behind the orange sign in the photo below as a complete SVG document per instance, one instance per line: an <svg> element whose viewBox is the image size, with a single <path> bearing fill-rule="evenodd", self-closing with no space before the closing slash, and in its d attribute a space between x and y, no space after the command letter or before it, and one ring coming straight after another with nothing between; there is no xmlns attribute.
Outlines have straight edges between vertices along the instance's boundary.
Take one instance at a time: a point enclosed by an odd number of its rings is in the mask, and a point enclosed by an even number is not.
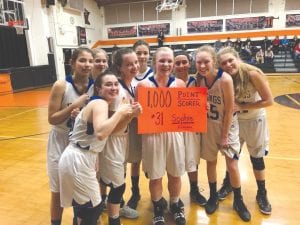
<svg viewBox="0 0 300 225"><path fill-rule="evenodd" d="M185 87L185 83L171 75L174 53L168 47L157 49L153 56L154 76L138 84L138 87ZM165 204L162 197L162 177L167 170L170 194L170 211L177 225L186 223L184 205L180 200L181 176L185 173L184 140L181 132L161 132L142 136L143 170L150 179L149 189L154 207L153 224L165 224Z"/></svg>

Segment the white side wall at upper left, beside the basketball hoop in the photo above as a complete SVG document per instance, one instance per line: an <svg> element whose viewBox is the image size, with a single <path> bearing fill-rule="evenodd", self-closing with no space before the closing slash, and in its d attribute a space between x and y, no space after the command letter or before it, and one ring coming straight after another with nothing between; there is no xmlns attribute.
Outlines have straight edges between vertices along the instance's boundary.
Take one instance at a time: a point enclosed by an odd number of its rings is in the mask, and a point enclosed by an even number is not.
<svg viewBox="0 0 300 225"><path fill-rule="evenodd" d="M83 7L89 12L89 25L85 24L83 12L63 8L59 1L46 7L42 1L26 0L24 7L29 23L26 37L30 65L48 64L48 53L54 53L58 78L65 77L63 49L79 46L77 27L86 32L86 46L92 47L102 38L101 10L94 0L83 1Z"/></svg>

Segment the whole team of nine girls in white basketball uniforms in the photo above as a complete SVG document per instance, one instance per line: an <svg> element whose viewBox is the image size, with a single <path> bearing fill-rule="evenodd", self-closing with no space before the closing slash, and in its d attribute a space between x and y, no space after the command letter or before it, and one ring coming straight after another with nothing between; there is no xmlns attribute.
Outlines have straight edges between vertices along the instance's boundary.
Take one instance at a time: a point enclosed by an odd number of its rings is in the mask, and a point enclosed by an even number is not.
<svg viewBox="0 0 300 225"><path fill-rule="evenodd" d="M191 198L204 206L207 214L214 213L219 200L233 191L234 210L242 220L249 221L251 215L241 194L238 168L244 142L257 180L257 203L262 213L270 214L263 160L268 153L269 139L264 108L272 105L273 98L263 72L243 63L232 48L218 53L211 46L197 49L197 74L193 76L188 73L191 65L186 52L174 56L170 48L158 48L153 54L153 70L148 67L149 56L149 45L137 41L133 49L122 48L116 52L112 63L114 72L103 72L107 68L106 53L79 48L72 57L73 75L53 85L49 101L49 123L53 128L47 161L52 225L61 223L62 207L69 206L74 207L74 224L97 223L103 210L100 189L102 196L106 194L105 188L99 188L97 170L101 184L110 186L109 225L119 225L120 202L125 191L124 165L131 163L132 195L127 206L136 209L141 198L141 161L149 179L154 225L165 224L167 201L162 196L165 171L169 208L177 225L186 224L180 199L181 176L185 172L189 176ZM137 135L136 118L142 111L136 101L138 87L206 87L207 133ZM227 172L222 188L217 191L219 151L225 156ZM198 186L200 158L207 162L208 200Z"/></svg>

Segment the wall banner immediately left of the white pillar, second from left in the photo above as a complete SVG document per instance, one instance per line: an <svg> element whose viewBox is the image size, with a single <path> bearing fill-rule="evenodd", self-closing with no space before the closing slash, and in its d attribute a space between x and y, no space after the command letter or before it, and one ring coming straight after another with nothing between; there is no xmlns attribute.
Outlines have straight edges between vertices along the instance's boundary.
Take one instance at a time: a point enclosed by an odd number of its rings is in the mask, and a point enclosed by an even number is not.
<svg viewBox="0 0 300 225"><path fill-rule="evenodd" d="M160 23L160 24L145 24L138 26L139 36L157 36L157 34L163 30L165 35L170 34L170 24Z"/></svg>

